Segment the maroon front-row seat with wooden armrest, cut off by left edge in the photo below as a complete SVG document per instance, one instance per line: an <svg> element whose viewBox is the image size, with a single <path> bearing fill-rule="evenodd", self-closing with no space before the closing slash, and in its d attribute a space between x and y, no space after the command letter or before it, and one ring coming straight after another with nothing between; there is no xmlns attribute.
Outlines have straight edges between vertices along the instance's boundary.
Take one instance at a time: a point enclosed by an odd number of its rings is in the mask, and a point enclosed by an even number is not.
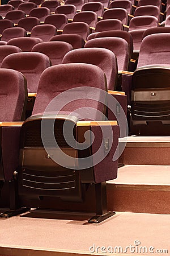
<svg viewBox="0 0 170 256"><path fill-rule="evenodd" d="M10 195L14 196L14 171L19 165L19 139L22 124L20 121L25 120L27 104L27 81L22 73L0 68L0 97L0 196L3 186L8 184L10 188L10 192L3 193L5 198L1 198L0 207L3 208L3 202L9 204ZM13 209L13 207L11 200L10 208Z"/></svg>

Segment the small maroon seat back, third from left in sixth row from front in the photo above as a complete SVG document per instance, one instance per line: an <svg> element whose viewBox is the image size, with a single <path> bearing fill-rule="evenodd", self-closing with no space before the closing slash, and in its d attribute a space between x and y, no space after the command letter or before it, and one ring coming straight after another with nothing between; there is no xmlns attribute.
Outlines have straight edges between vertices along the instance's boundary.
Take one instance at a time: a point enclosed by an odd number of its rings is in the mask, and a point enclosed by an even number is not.
<svg viewBox="0 0 170 256"><path fill-rule="evenodd" d="M57 30L63 30L65 24L68 23L68 19L65 14L50 14L46 16L44 23L52 24Z"/></svg>

